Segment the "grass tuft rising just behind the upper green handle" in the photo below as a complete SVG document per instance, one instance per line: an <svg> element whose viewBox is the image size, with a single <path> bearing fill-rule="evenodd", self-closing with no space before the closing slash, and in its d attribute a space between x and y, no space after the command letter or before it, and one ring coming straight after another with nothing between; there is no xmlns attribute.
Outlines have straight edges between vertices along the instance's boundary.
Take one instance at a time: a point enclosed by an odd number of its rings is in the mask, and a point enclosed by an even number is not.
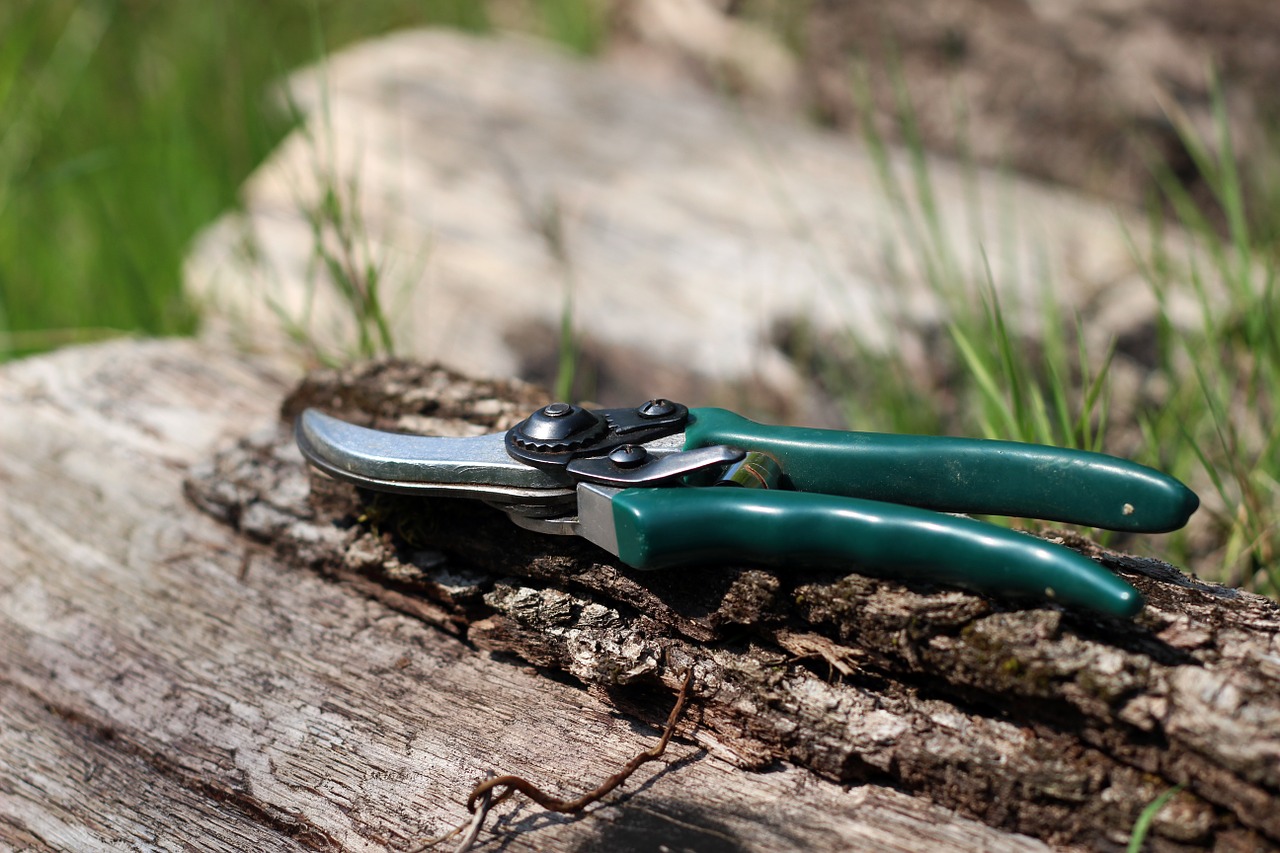
<svg viewBox="0 0 1280 853"><path fill-rule="evenodd" d="M980 197L977 173L966 173L969 231L948 227L905 88L897 91L904 165L895 161L869 119L867 78L855 74L852 86L867 117L863 138L888 202L890 224L908 247L908 257L888 254L886 272L891 279L901 277L902 286L923 278L946 319L929 342L929 370L923 373L902 353L879 352L854 336L844 342L852 351L840 357L835 370L817 365L827 386L845 398L850 426L1106 448L1114 348L1087 348L1080 319L1061 315L1055 283L1044 273L1036 273L1042 278L1036 305L1010 304L1012 297L1000 296L1015 288L1000 286L986 255L978 223L984 219L983 204L991 201ZM1010 224L1002 228L1012 229ZM1028 240L1014 233L1004 237L1009 245L1012 238ZM963 247L974 251L963 252ZM966 265L961 260L966 254L978 264ZM1015 264L1006 259L1001 266ZM1015 328L1012 318L1036 314L1036 329ZM856 379L849 375L852 371Z"/></svg>

